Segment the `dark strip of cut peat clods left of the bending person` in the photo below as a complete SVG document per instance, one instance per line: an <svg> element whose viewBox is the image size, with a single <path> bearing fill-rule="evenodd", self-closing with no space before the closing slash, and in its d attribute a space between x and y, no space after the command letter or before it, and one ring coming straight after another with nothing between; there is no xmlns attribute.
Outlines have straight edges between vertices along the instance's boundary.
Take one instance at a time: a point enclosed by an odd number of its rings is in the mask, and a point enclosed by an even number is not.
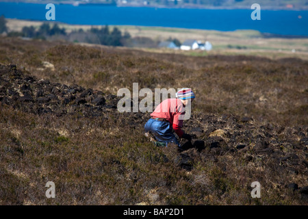
<svg viewBox="0 0 308 219"><path fill-rule="evenodd" d="M1 66L1 84L1 103L39 115L63 116L79 112L82 116L93 117L116 109L118 103L116 96L101 91L26 76L14 65Z"/></svg>

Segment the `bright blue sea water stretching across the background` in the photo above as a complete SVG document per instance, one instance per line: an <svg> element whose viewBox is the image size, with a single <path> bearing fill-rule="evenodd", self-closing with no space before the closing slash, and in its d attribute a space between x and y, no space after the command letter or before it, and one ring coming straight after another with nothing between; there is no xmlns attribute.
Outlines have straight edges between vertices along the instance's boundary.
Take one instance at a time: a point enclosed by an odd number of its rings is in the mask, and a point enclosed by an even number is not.
<svg viewBox="0 0 308 219"><path fill-rule="evenodd" d="M0 2L6 18L46 21L44 4ZM55 21L79 25L140 25L234 31L255 29L263 33L308 36L308 11L262 10L253 21L253 10L184 8L130 8L116 5L55 5Z"/></svg>

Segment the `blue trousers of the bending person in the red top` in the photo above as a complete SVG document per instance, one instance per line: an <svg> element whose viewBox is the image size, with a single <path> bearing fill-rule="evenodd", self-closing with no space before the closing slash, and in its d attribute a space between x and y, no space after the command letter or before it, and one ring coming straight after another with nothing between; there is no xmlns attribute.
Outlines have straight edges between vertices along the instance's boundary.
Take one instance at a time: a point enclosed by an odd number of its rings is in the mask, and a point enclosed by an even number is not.
<svg viewBox="0 0 308 219"><path fill-rule="evenodd" d="M144 125L144 130L146 132L151 132L153 136L155 136L157 142L166 142L166 145L168 142L174 142L180 146L177 137L172 133L172 127L168 122L150 118Z"/></svg>

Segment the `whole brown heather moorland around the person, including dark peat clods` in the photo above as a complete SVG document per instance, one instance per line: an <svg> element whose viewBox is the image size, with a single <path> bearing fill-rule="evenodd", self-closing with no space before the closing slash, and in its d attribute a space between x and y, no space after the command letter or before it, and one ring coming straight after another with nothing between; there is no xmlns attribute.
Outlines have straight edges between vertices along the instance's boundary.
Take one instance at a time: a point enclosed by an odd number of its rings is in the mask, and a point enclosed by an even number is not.
<svg viewBox="0 0 308 219"><path fill-rule="evenodd" d="M0 51L1 205L307 205L307 61L3 37ZM145 138L149 113L116 110L133 83L194 90L184 151Z"/></svg>

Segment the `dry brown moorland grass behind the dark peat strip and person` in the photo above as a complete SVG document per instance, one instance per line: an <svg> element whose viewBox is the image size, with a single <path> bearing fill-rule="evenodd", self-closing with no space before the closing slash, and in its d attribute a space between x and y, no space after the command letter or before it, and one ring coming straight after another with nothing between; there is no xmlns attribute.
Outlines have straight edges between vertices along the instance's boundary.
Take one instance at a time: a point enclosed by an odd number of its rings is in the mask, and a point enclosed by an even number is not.
<svg viewBox="0 0 308 219"><path fill-rule="evenodd" d="M0 62L40 78L116 94L120 88L191 87L195 110L253 116L281 125L307 124L307 61L244 55L193 57L64 42L2 38ZM55 70L43 68L50 62ZM41 70L44 69L44 70Z"/></svg>

